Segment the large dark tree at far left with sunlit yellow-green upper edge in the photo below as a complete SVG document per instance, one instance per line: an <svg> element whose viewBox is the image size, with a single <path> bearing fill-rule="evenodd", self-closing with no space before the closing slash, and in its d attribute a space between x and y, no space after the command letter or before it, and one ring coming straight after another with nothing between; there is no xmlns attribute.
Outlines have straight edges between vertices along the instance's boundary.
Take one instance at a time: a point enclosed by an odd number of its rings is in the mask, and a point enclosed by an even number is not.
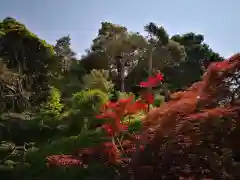
<svg viewBox="0 0 240 180"><path fill-rule="evenodd" d="M51 45L31 33L13 18L0 22L0 57L8 69L18 74L14 89L30 92L34 104L45 99L50 70L56 65Z"/></svg>

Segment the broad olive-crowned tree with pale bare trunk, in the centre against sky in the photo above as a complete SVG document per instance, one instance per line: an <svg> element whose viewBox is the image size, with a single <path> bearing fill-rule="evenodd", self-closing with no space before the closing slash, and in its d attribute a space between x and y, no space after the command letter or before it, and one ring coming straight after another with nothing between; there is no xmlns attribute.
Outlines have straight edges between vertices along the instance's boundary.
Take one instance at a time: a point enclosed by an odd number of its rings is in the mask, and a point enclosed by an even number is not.
<svg viewBox="0 0 240 180"><path fill-rule="evenodd" d="M146 40L139 33L109 22L101 24L97 38L93 40L92 52L105 53L110 72L116 73L121 91L125 91L124 79L138 62L146 49Z"/></svg>

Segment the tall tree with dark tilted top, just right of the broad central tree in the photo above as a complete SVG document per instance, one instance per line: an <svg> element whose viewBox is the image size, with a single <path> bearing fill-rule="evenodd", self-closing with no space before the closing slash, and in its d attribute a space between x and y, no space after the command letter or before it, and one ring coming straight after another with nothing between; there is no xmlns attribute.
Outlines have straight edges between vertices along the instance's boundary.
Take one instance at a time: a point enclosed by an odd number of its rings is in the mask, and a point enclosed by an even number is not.
<svg viewBox="0 0 240 180"><path fill-rule="evenodd" d="M148 53L127 77L129 86L138 84L147 75L151 75L152 71L178 67L186 58L184 46L171 40L163 27L149 23L145 26L145 31L148 32Z"/></svg>

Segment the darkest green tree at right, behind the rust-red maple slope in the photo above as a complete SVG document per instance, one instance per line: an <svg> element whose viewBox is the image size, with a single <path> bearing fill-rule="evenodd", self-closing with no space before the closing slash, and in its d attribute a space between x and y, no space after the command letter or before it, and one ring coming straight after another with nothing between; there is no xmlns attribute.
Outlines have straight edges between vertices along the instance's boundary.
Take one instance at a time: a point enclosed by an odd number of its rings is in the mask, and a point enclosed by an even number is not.
<svg viewBox="0 0 240 180"><path fill-rule="evenodd" d="M174 35L171 39L183 45L187 54L186 61L181 62L179 66L164 69L166 81L171 84L173 90L184 89L200 80L211 62L223 60L218 53L203 43L204 37L201 34Z"/></svg>

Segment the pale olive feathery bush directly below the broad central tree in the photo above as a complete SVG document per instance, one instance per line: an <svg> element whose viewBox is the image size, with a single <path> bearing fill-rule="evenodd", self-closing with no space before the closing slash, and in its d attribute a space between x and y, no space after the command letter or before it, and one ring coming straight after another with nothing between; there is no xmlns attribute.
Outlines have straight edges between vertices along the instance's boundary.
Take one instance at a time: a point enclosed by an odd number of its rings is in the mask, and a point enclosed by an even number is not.
<svg viewBox="0 0 240 180"><path fill-rule="evenodd" d="M102 92L108 93L113 90L114 84L109 80L109 72L107 70L93 69L89 74L83 76L82 88L99 89Z"/></svg>

